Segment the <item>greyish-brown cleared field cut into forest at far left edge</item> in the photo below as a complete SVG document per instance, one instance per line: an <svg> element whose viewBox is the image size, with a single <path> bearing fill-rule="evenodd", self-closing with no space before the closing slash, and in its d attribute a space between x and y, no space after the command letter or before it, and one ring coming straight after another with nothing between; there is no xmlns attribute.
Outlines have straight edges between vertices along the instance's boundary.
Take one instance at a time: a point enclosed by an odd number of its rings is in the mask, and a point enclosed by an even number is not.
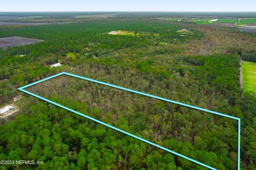
<svg viewBox="0 0 256 170"><path fill-rule="evenodd" d="M23 37L5 37L5 38L0 38L0 48L3 48L5 50L7 47L28 45L33 43L39 43L41 41L43 40L23 38Z"/></svg>

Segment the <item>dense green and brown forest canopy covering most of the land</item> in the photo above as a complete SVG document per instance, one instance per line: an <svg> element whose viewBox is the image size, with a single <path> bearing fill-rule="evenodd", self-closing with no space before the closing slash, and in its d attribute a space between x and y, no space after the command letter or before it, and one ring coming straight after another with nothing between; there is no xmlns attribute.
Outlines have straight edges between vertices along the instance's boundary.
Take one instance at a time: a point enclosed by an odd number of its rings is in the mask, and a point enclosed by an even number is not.
<svg viewBox="0 0 256 170"><path fill-rule="evenodd" d="M109 35L116 30L139 36ZM241 118L241 169L256 169L256 97L239 86L239 60L255 60L255 35L133 18L0 26L7 36L44 41L0 50L1 104L21 86L74 73ZM236 121L97 84L52 81L29 90L206 165L237 169ZM2 169L206 169L33 96L23 94L17 105L20 114L2 121L0 159L44 164Z"/></svg>

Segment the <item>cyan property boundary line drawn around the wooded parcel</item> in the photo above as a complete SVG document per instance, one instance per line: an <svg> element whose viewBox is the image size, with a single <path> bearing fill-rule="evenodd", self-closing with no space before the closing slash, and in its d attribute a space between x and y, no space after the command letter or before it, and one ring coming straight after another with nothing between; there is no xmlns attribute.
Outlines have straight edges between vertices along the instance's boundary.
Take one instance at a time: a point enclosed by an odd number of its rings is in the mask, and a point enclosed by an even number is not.
<svg viewBox="0 0 256 170"><path fill-rule="evenodd" d="M116 130L116 131L119 131L119 132L122 132L122 133L124 133L124 134L127 134L127 135L129 135L129 136L131 136L131 137L133 137L133 138L136 138L136 139L139 139L139 140L141 140L141 141L143 141L143 142L149 143L150 145L153 145L153 146L155 146L155 147L157 147L157 148L160 148L160 149L163 149L163 150L165 150L165 151L171 152L171 153L174 154L174 155L177 155L177 156L180 156L180 157L182 157L182 158L188 159L188 160L190 160L191 162L194 162L194 163L196 163L196 164L202 165L202 166L207 167L207 168L209 168L209 169L214 169L214 170L215 170L215 168L213 168L213 167L211 167L211 166L208 166L208 165L205 165L205 164L203 164L203 163L200 163L200 162L198 162L197 160L194 160L194 159L191 159L191 158L189 158L189 157L187 157L187 156L181 155L181 154L179 154L179 153L177 153L177 152L174 152L174 151L172 151L172 150L170 150L170 149L167 149L167 148L164 148L164 147L162 147L162 146L159 146L159 145L157 145L157 144L155 144L155 143L153 143L153 142L150 142L150 141L148 141L148 140L145 140L145 139L142 139L142 138L140 138L140 137L137 137L136 135L133 135L133 134L128 133L128 132L126 132L126 131L123 131L123 130L121 130L121 129L115 128L114 126L111 126L111 125L109 125L109 124L107 124L107 123L101 122L101 121L99 121L99 120L96 120L95 118L92 118L92 117L90 117L90 116L84 115L84 114L82 114L82 113L79 113L79 112L77 112L77 111L74 111L73 109L70 109L70 108L68 108L68 107L62 106L62 105L60 105L60 104L58 104L58 103L55 103L55 102L53 102L53 101L51 101L51 100L48 100L48 99L43 98L43 97L41 97L41 96L35 95L35 94L33 94L33 93L31 93L31 92L29 92L29 91L27 91L27 90L24 90L24 89L27 88L27 87L33 86L33 85L35 85L35 84L37 84L37 83L41 83L41 82L43 82L43 81L46 81L46 80L49 80L49 79L52 79L52 78L55 78L55 77L58 77L59 75L62 75L62 74L70 75L71 77L75 77L75 78L79 78L79 79L83 79L83 80L87 80L87 81L91 81L91 82L103 84L103 85L110 86L110 87L114 87L114 88L117 88L117 89L122 89L122 90L130 91L130 92L134 92L135 94L140 94L140 95L143 95L143 96L148 96L148 97L156 98L156 99L159 99L159 100L168 101L168 102L170 102L170 103L174 103L174 104L178 104L178 105L182 105L182 106L186 106L186 107L198 109L199 111L204 111L204 112L208 112L208 113L212 113L212 114L215 114L215 115L220 115L220 116L224 116L224 117L228 117L228 118L232 118L232 119L234 119L234 120L237 120L237 121L238 121L238 151L237 151L237 152L238 152L238 154L237 154L237 156L238 156L238 159L237 159L237 160L238 160L238 163L237 163L237 165L238 165L238 166L237 166L237 169L238 169L238 170L240 169L240 129L241 129L241 119L238 118L238 117L229 116L229 115L226 115L226 114L222 114L222 113L218 113L218 112L209 111L209 110L204 109L204 108L200 108L200 107L196 107L196 106L191 106L191 105L183 104L183 103L180 103L180 102L178 102L178 101L169 100L169 99L165 99L165 98L162 98L162 97L157 97L157 96L145 94L145 93L140 92L140 91L135 91L135 90L131 90L131 89L127 89L127 88L115 86L115 85L113 85L113 84L109 84L109 83L105 83L105 82L101 82L101 81L97 81L97 80L85 78L85 77L82 77L82 76L79 76L79 75L75 75L75 74L70 74L70 73L67 73L67 72L61 72L61 73L59 73L59 74L52 75L52 76L49 77L49 78L45 78L45 79L36 81L36 82L34 82L34 83L28 84L28 85L26 85L26 86L20 87L20 88L18 88L18 90L23 91L23 92L26 92L26 93L29 94L29 95L35 96L35 97L37 97L37 98L39 98L39 99L42 99L42 100L44 100L44 101L47 101L47 102L49 102L49 103L51 103L51 104L53 104L53 105L59 106L59 107L61 107L61 108L63 108L63 109L66 109L66 110L68 110L68 111L70 111L70 112L76 113L76 114L81 115L81 116L86 117L86 118L89 118L90 120L92 120L92 121L94 121L94 122L100 123L100 124L105 125L105 126L111 128L111 129L114 129L114 130Z"/></svg>

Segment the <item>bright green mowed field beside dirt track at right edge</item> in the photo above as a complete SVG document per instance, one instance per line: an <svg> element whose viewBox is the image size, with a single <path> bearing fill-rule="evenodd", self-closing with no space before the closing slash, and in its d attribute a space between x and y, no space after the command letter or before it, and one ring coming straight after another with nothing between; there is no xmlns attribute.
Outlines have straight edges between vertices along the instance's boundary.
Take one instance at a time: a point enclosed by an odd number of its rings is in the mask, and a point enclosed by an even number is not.
<svg viewBox="0 0 256 170"><path fill-rule="evenodd" d="M256 62L242 62L244 91L256 93Z"/></svg>

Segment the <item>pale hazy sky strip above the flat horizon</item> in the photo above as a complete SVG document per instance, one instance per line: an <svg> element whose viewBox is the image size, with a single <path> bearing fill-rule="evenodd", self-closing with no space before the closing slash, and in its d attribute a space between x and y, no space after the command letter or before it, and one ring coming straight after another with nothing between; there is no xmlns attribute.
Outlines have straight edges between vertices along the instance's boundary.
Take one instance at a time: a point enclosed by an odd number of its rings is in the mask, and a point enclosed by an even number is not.
<svg viewBox="0 0 256 170"><path fill-rule="evenodd" d="M0 0L0 11L256 11L256 0Z"/></svg>

